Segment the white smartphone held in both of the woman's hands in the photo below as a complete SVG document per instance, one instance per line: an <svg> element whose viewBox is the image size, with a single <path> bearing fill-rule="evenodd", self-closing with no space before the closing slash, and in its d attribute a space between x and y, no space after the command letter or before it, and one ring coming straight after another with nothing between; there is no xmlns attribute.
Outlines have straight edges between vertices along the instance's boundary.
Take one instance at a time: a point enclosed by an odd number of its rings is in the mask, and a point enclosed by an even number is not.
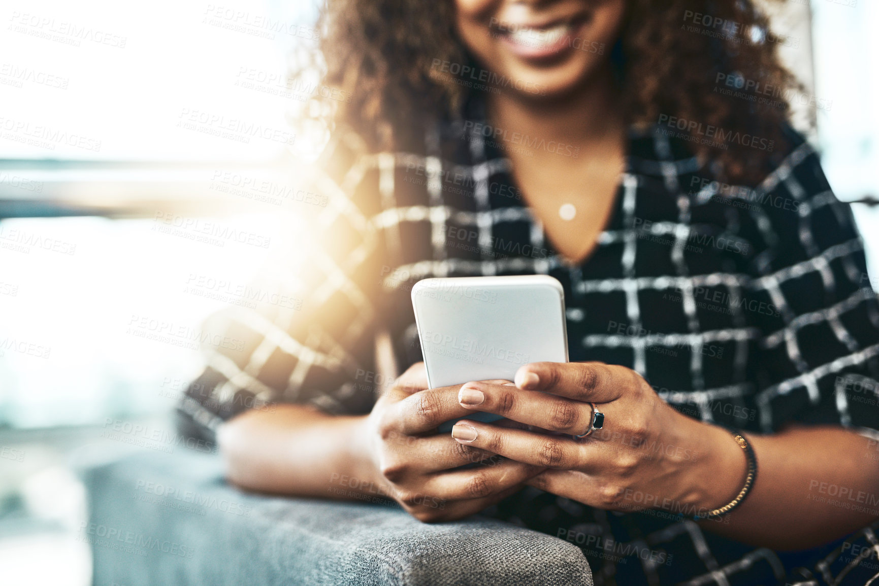
<svg viewBox="0 0 879 586"><path fill-rule="evenodd" d="M564 291L547 275L423 279L412 287L431 388L513 380L531 362L568 362ZM500 416L476 413L479 421ZM452 423L440 427L451 430Z"/></svg>

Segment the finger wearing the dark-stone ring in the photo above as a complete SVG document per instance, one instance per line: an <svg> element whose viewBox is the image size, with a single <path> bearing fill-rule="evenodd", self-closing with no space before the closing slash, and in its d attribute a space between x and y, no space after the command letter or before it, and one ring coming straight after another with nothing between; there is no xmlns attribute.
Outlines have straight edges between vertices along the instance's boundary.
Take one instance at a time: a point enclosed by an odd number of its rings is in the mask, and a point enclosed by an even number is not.
<svg viewBox="0 0 879 586"><path fill-rule="evenodd" d="M469 382L458 392L458 402L468 409L574 435L585 433L592 422L592 405L589 403L512 385Z"/></svg>

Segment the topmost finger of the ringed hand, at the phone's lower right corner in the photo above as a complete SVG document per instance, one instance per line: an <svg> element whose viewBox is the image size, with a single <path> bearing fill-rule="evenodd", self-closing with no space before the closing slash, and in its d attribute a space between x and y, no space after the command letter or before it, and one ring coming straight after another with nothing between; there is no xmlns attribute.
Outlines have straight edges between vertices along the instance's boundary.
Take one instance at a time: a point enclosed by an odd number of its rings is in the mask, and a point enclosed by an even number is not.
<svg viewBox="0 0 879 586"><path fill-rule="evenodd" d="M533 362L516 372L516 386L582 402L609 403L643 379L623 366L600 362Z"/></svg>

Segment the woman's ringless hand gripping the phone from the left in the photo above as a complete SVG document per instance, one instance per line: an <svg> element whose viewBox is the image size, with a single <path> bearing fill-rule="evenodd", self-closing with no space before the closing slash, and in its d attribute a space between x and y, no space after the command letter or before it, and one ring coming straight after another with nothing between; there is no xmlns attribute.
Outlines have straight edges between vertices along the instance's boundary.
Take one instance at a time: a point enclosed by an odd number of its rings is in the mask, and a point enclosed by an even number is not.
<svg viewBox="0 0 879 586"><path fill-rule="evenodd" d="M371 456L375 483L420 521L472 515L544 470L438 434L440 423L474 413L461 407L460 388L429 389L424 363L412 365L381 395L357 436ZM454 469L472 463L478 466Z"/></svg>

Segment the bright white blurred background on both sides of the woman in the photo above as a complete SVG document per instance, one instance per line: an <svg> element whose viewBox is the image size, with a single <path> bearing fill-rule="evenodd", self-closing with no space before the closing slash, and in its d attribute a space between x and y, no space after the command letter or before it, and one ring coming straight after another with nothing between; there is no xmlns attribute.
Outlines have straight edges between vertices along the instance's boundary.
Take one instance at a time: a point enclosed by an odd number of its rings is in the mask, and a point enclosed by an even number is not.
<svg viewBox="0 0 879 586"><path fill-rule="evenodd" d="M877 287L879 6L767 10ZM186 449L171 411L200 345L234 343L205 318L275 302L251 278L325 205L305 181L325 136L298 123L325 88L289 77L316 13L0 2L0 584L91 583L76 470Z"/></svg>

